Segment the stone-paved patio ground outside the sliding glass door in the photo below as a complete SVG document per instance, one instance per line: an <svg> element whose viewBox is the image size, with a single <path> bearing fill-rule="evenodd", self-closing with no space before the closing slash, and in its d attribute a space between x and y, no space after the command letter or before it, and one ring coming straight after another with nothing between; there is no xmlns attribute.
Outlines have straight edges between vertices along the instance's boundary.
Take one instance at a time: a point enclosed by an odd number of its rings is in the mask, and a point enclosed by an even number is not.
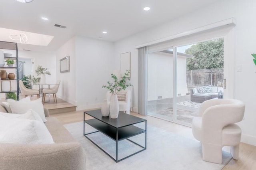
<svg viewBox="0 0 256 170"><path fill-rule="evenodd" d="M190 102L190 94L177 97L177 119L186 123L192 123L192 119L198 115L198 109L201 103ZM163 115L166 119L172 120L173 99L158 99L148 101L149 115Z"/></svg>

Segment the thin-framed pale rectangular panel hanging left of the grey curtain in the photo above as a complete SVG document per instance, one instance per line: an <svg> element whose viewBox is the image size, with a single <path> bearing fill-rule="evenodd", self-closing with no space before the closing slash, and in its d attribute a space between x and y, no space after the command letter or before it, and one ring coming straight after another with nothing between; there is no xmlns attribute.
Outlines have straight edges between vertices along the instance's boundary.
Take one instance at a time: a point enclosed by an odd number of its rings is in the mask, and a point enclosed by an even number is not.
<svg viewBox="0 0 256 170"><path fill-rule="evenodd" d="M120 54L120 72L122 77L126 70L130 71L128 77L131 77L131 52Z"/></svg>

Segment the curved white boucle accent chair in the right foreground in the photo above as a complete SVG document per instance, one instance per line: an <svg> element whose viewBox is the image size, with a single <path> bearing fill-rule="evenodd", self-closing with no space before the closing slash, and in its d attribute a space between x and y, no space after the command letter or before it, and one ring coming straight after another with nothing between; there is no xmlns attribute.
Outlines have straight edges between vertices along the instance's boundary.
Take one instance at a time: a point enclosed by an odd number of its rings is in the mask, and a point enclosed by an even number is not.
<svg viewBox="0 0 256 170"><path fill-rule="evenodd" d="M235 123L242 121L245 105L236 99L204 101L199 117L192 121L194 137L202 143L203 160L222 163L222 147L231 146L233 159L238 160L242 130Z"/></svg>

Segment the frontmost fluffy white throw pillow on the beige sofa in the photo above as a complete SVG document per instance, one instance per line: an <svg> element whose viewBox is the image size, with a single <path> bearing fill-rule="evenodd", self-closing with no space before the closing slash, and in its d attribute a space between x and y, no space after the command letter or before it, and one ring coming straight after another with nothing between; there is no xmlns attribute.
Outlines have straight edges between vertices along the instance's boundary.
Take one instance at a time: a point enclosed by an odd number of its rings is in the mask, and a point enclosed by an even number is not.
<svg viewBox="0 0 256 170"><path fill-rule="evenodd" d="M0 115L0 142L20 144L53 144L44 123L28 119L13 119Z"/></svg>

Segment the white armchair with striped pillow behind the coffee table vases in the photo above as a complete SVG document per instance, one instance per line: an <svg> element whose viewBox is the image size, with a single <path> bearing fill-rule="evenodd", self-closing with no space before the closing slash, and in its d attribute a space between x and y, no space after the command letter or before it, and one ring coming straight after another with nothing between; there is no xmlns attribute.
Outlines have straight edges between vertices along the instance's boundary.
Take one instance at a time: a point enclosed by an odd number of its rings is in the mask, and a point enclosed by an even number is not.
<svg viewBox="0 0 256 170"><path fill-rule="evenodd" d="M121 94L125 95L125 98L123 98L124 101L122 100ZM110 91L107 91L106 93L106 99L108 100L108 103L110 103L110 98L111 98L112 93ZM125 113L130 115L130 108L131 108L131 91L130 90L121 90L120 92L117 93L118 95L118 106L119 106L119 111L125 111Z"/></svg>

